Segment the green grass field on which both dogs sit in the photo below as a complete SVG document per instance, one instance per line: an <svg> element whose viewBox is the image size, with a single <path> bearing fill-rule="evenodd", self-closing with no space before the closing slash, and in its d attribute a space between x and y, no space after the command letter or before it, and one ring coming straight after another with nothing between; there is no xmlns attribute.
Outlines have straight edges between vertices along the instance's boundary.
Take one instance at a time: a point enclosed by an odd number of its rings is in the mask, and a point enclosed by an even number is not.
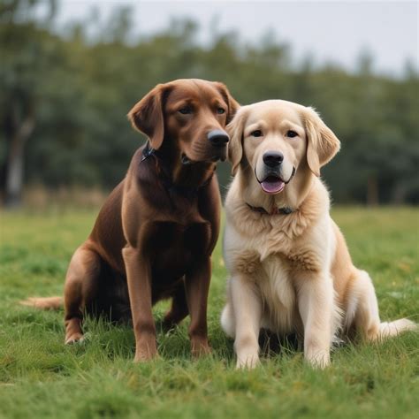
<svg viewBox="0 0 419 419"><path fill-rule="evenodd" d="M376 284L382 319L419 321L419 209L334 209L354 262ZM1 214L1 418L407 418L419 415L419 334L340 347L324 371L284 349L236 371L220 329L225 267L218 245L209 297L213 354L191 361L187 321L159 332L161 358L133 364L133 331L88 320L88 341L65 347L62 312L19 299L62 293L67 263L95 211ZM161 319L165 306L155 309Z"/></svg>

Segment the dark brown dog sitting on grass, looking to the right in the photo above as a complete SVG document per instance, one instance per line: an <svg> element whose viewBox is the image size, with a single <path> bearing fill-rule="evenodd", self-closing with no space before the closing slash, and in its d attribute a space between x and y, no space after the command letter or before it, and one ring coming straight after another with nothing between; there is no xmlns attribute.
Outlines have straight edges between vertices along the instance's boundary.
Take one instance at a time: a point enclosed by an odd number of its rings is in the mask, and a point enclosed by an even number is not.
<svg viewBox="0 0 419 419"><path fill-rule="evenodd" d="M65 279L65 343L83 338L82 316L130 318L135 361L157 354L151 308L172 298L164 325L189 313L194 355L209 352L207 299L219 231L215 168L239 105L222 83L176 80L156 86L129 112L149 137L72 256ZM57 298L27 304L55 308Z"/></svg>

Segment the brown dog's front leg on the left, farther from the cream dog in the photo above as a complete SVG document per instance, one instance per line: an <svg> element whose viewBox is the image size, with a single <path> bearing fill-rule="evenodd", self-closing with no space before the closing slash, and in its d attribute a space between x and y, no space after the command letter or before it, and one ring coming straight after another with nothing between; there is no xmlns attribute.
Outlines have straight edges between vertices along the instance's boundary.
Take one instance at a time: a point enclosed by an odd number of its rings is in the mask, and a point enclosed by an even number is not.
<svg viewBox="0 0 419 419"><path fill-rule="evenodd" d="M135 335L134 362L148 361L157 354L156 324L151 311L151 269L136 248L122 250Z"/></svg>

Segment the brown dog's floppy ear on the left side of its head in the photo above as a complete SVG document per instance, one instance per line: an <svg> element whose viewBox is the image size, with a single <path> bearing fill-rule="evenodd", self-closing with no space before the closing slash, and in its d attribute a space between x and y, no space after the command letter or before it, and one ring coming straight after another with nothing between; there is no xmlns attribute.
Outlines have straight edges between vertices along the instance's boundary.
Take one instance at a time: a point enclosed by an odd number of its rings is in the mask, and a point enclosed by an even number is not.
<svg viewBox="0 0 419 419"><path fill-rule="evenodd" d="M158 84L128 113L128 119L135 129L145 133L153 149L159 149L164 139L164 98L168 87Z"/></svg>

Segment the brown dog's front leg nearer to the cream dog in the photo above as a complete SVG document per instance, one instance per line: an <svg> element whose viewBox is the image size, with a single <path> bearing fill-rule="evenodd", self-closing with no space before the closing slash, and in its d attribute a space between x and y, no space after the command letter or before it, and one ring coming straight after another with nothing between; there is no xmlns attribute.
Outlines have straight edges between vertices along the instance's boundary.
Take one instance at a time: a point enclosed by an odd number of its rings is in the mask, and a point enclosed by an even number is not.
<svg viewBox="0 0 419 419"><path fill-rule="evenodd" d="M210 278L210 257L200 263L195 263L194 268L187 273L185 278L187 305L191 316L189 338L191 339L191 351L194 356L210 353L207 331L207 301Z"/></svg>

